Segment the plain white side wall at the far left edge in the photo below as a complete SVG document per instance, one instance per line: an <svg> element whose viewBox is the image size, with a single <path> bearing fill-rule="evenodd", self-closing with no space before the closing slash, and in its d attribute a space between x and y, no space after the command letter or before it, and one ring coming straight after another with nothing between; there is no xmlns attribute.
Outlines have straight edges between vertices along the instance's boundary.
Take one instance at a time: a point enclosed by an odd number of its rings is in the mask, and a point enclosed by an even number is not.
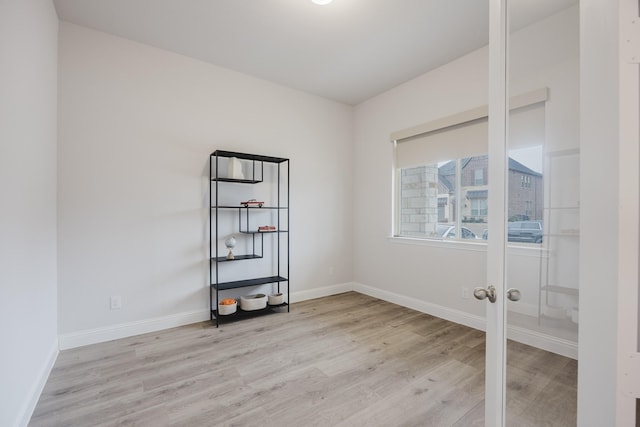
<svg viewBox="0 0 640 427"><path fill-rule="evenodd" d="M57 356L58 17L0 3L0 425L26 425Z"/></svg>

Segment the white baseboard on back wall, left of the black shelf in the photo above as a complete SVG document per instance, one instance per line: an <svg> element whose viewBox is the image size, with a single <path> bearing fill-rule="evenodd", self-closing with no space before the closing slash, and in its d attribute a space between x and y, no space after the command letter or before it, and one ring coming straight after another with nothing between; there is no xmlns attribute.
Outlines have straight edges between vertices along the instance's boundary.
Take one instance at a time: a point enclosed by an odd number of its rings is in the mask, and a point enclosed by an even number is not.
<svg viewBox="0 0 640 427"><path fill-rule="evenodd" d="M189 325L191 323L203 322L209 320L210 316L209 310L178 313L153 319L120 323L103 328L86 329L84 331L61 334L58 336L58 341L60 343L60 350L66 350L83 345L97 344L119 338L127 338L134 335Z"/></svg>

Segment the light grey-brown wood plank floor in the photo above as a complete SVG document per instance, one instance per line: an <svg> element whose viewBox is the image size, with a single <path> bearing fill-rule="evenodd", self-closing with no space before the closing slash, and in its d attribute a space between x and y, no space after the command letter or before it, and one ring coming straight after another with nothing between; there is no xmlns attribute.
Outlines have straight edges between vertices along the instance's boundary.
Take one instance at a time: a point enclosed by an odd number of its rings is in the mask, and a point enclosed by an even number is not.
<svg viewBox="0 0 640 427"><path fill-rule="evenodd" d="M508 347L508 425L575 425L576 361ZM483 332L349 292L62 351L30 425L481 426L483 393Z"/></svg>

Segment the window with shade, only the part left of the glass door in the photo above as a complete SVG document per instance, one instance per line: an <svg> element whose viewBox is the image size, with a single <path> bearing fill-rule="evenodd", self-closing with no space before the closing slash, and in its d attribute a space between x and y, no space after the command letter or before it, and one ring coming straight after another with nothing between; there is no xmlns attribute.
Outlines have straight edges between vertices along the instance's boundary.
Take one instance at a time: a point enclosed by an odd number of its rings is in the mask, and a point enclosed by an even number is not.
<svg viewBox="0 0 640 427"><path fill-rule="evenodd" d="M486 185L487 134L487 119L482 117L396 142L395 236L482 236L487 190L483 206L470 197Z"/></svg>

